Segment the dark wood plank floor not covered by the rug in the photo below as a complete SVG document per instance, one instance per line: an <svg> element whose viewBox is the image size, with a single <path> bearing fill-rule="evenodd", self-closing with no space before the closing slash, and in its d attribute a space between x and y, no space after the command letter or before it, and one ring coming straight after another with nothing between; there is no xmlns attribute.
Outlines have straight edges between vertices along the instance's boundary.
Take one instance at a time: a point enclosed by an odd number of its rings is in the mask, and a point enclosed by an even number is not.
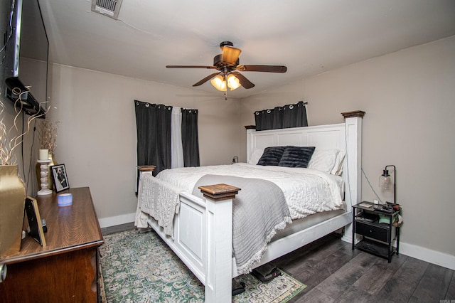
<svg viewBox="0 0 455 303"><path fill-rule="evenodd" d="M102 228L103 235L134 228ZM394 255L392 262L352 250L331 234L272 264L307 285L289 302L455 303L454 270Z"/></svg>

